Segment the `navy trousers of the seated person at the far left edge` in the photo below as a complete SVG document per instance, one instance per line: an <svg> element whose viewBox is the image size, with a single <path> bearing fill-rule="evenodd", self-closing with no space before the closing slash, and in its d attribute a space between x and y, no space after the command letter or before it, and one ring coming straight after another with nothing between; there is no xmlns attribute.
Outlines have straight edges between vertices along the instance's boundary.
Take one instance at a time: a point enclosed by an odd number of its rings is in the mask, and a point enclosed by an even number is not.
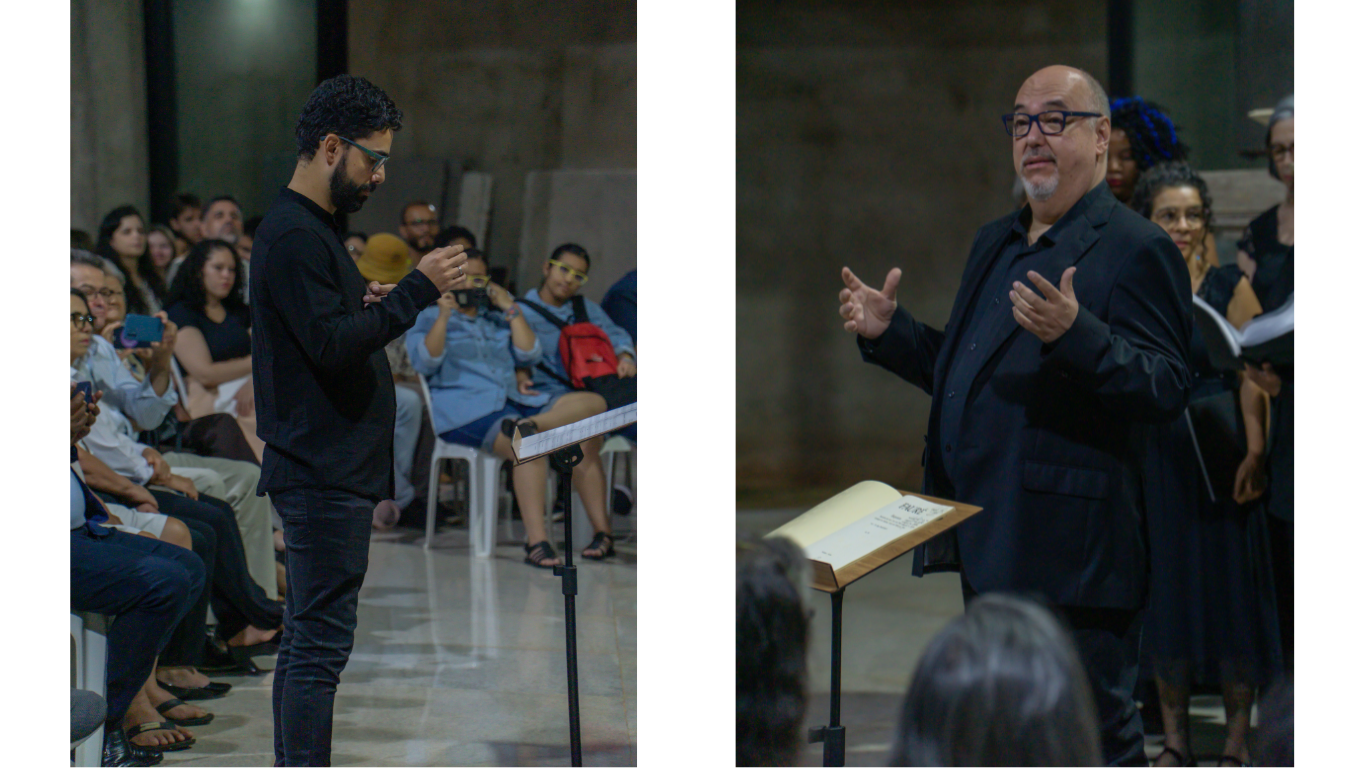
<svg viewBox="0 0 1366 768"><path fill-rule="evenodd" d="M107 723L123 727L157 653L205 589L204 563L175 544L122 530L71 532L71 608L113 616L105 661Z"/></svg>

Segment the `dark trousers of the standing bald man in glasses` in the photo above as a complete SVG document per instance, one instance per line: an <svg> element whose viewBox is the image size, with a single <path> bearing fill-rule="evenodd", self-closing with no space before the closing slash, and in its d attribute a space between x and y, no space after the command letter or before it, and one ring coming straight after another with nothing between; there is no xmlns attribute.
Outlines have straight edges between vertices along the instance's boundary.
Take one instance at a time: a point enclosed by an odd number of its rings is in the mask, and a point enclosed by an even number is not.
<svg viewBox="0 0 1366 768"><path fill-rule="evenodd" d="M963 582L963 607L977 590ZM1076 644L1096 700L1101 727L1101 757L1106 765L1147 765L1143 754L1143 719L1134 701L1138 686L1138 652L1142 611L1053 605Z"/></svg>

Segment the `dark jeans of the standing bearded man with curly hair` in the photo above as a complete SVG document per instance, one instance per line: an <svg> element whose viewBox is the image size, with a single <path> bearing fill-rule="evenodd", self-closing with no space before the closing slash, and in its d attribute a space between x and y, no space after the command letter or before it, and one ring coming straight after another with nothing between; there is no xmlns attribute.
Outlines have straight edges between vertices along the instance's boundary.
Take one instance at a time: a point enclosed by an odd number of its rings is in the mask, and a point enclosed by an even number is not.
<svg viewBox="0 0 1366 768"><path fill-rule="evenodd" d="M332 764L332 705L355 644L377 499L342 491L272 493L284 523L290 590L275 661L275 764Z"/></svg>

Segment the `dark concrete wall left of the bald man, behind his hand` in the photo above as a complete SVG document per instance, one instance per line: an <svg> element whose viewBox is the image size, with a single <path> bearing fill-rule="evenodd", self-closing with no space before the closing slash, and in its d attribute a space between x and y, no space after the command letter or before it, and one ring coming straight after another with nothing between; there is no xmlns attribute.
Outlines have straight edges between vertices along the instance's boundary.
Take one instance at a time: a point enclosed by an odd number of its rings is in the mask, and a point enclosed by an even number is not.
<svg viewBox="0 0 1366 768"><path fill-rule="evenodd" d="M840 266L943 327L1011 208L1000 115L1046 64L1104 82L1105 4L742 3L738 37L738 486L918 486L930 400L861 362Z"/></svg>

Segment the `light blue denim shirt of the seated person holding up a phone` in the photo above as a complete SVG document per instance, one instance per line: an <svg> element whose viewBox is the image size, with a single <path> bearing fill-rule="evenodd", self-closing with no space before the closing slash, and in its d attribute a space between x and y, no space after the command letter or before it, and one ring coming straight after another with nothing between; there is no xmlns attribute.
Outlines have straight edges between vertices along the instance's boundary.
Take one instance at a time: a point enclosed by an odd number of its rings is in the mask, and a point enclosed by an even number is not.
<svg viewBox="0 0 1366 768"><path fill-rule="evenodd" d="M545 392L526 396L516 391L515 369L534 366L541 359L540 339L523 351L512 343L512 327L503 313L469 317L451 310L445 348L434 358L428 354L425 339L438 312L436 306L422 310L404 339L413 369L426 377L432 389L437 435L501 410L508 400L525 406L550 402Z"/></svg>

